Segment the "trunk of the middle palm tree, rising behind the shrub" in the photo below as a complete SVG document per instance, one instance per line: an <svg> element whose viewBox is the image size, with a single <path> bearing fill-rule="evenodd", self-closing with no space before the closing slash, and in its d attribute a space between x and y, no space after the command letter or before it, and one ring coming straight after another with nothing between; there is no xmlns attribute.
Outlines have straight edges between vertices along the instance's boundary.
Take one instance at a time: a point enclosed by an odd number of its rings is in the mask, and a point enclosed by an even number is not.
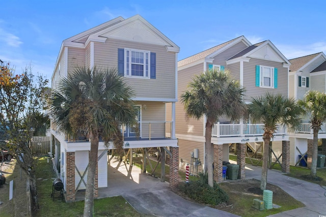
<svg viewBox="0 0 326 217"><path fill-rule="evenodd" d="M213 125L210 121L206 122L206 131L205 131L205 152L207 157L207 174L208 174L208 185L213 187L214 185L214 173L213 173L213 163L214 163L214 149L211 144L212 137L212 127Z"/></svg>

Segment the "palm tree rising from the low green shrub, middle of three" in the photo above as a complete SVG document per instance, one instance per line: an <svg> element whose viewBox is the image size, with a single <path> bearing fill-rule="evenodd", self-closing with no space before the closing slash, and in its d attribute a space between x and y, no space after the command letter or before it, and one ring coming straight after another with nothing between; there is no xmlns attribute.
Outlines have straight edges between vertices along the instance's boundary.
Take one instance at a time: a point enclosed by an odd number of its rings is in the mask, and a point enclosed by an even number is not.
<svg viewBox="0 0 326 217"><path fill-rule="evenodd" d="M213 187L212 127L219 117L225 115L238 119L244 111L244 89L238 81L231 80L229 72L210 70L196 75L181 95L181 102L189 117L196 119L206 115L205 150L207 154L208 184Z"/></svg>

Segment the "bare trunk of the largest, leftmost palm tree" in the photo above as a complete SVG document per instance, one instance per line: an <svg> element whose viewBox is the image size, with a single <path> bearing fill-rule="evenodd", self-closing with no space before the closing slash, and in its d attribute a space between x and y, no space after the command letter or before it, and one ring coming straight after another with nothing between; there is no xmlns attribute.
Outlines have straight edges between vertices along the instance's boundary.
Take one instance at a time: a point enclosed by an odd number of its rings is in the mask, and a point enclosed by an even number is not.
<svg viewBox="0 0 326 217"><path fill-rule="evenodd" d="M91 140L91 150L89 153L89 167L87 174L84 217L92 217L94 212L94 183L97 165L98 136Z"/></svg>

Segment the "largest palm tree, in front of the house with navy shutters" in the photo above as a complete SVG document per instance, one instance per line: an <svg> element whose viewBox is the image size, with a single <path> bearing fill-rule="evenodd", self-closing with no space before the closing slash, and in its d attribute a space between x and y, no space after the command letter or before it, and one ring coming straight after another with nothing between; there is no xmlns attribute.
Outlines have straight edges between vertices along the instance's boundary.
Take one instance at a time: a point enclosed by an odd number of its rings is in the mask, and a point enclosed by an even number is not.
<svg viewBox="0 0 326 217"><path fill-rule="evenodd" d="M91 141L84 216L93 216L94 180L100 137L123 145L120 126L133 125L137 109L133 91L117 69L76 68L68 78L60 80L49 98L53 120L66 135L84 134Z"/></svg>

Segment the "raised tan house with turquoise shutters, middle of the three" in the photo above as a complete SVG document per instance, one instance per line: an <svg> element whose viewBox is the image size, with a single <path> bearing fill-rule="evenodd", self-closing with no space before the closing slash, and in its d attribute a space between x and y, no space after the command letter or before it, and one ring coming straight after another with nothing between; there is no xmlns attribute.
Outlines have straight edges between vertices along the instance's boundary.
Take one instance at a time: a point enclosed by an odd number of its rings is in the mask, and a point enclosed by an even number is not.
<svg viewBox="0 0 326 217"><path fill-rule="evenodd" d="M210 69L229 70L233 79L238 80L246 89L244 102L250 103L252 97L264 95L265 92L287 97L289 66L289 61L270 41L252 45L243 36L178 61L176 137L179 139L179 167L184 168L186 164L191 164L191 173L196 173L202 172L206 164L205 117L199 120L187 118L184 105L180 103L180 96L194 75ZM211 139L215 145L214 180L222 180L222 163L229 161L229 145L232 143L237 147L239 177L244 178L246 147L263 141L263 125L252 124L243 119L231 123L223 117L219 121L213 127ZM273 145L282 152L282 144L289 148L288 140L286 129L279 128ZM284 162L288 166L288 160Z"/></svg>

